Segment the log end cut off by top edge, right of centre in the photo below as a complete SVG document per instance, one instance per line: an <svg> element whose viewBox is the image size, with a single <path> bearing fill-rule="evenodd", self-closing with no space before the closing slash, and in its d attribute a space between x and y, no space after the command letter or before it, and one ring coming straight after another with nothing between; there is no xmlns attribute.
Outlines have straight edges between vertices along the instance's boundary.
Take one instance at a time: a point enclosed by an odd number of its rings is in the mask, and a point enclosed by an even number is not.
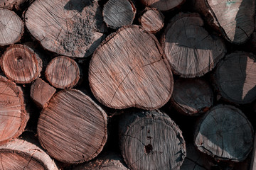
<svg viewBox="0 0 256 170"><path fill-rule="evenodd" d="M160 11L168 11L177 6L181 6L185 0L140 0L145 6L150 6L152 8L157 8Z"/></svg>

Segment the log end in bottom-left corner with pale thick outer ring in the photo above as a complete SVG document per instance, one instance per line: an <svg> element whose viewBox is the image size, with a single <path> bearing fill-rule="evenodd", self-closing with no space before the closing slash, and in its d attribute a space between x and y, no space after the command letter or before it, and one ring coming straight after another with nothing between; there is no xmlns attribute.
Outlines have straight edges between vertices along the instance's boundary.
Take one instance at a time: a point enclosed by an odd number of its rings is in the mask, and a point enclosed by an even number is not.
<svg viewBox="0 0 256 170"><path fill-rule="evenodd" d="M53 159L26 140L12 140L0 146L0 169L58 170Z"/></svg>

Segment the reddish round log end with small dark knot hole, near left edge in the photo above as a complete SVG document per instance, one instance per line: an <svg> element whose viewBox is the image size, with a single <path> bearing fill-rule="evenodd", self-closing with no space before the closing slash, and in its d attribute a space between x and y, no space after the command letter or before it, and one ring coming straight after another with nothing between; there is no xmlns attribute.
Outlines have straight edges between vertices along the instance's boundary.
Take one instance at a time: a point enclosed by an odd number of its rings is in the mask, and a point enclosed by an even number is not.
<svg viewBox="0 0 256 170"><path fill-rule="evenodd" d="M40 77L42 61L26 45L11 45L1 57L1 69L12 81L28 84Z"/></svg>

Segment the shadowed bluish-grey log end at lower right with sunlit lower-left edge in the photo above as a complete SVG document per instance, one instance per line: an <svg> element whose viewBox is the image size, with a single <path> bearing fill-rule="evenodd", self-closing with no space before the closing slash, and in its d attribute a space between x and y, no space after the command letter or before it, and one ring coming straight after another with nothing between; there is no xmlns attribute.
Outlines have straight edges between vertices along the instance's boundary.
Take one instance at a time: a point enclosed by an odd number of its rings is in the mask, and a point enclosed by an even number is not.
<svg viewBox="0 0 256 170"><path fill-rule="evenodd" d="M196 147L218 160L242 162L252 149L253 128L234 106L211 108L195 133Z"/></svg>

